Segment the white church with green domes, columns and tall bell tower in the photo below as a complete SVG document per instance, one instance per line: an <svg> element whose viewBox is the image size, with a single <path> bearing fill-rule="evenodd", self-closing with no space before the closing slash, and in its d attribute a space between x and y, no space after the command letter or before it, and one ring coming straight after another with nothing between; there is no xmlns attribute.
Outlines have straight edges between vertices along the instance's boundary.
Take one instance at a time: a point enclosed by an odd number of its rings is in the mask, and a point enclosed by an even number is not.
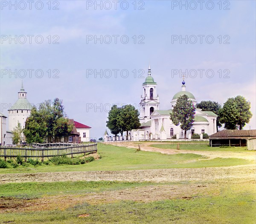
<svg viewBox="0 0 256 224"><path fill-rule="evenodd" d="M160 110L160 100L157 94L157 83L151 76L151 68L148 67L148 76L142 84L142 95L140 99L140 129L129 132L129 140L168 140L176 135L177 139L184 138L184 131L180 125L176 126L170 119L170 113L175 106L179 96L187 95L189 100L196 106L195 96L186 91L185 81L183 80L181 91L172 97L169 110ZM191 138L193 133L196 134L214 134L216 128L217 115L212 111L201 111L196 109L195 119L192 128L186 131L186 137ZM202 136L202 135L201 135ZM105 132L105 141L110 140L108 133Z"/></svg>

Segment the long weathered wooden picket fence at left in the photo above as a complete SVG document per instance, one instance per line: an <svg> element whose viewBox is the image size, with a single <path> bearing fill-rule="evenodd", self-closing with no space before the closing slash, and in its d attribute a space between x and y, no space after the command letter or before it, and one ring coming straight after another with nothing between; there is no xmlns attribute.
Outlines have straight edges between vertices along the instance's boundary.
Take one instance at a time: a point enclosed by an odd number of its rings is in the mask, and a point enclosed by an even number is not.
<svg viewBox="0 0 256 224"><path fill-rule="evenodd" d="M25 147L1 146L0 158L4 160L17 157L27 159L38 159L41 161L49 160L50 157L67 155L68 157L82 156L88 152L96 152L97 143L93 144L65 144L65 143L47 143L31 144Z"/></svg>

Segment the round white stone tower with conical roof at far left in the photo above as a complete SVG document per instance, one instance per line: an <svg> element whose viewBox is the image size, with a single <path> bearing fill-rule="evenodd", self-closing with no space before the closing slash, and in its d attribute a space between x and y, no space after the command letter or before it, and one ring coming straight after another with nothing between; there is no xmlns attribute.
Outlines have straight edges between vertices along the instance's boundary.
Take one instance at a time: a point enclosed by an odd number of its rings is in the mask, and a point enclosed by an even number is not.
<svg viewBox="0 0 256 224"><path fill-rule="evenodd" d="M21 81L21 89L18 92L18 100L8 110L9 114L9 131L13 131L17 127L18 122L21 124L21 128L25 128L27 117L29 117L32 110L32 105L26 99L26 92L23 88L23 82Z"/></svg>

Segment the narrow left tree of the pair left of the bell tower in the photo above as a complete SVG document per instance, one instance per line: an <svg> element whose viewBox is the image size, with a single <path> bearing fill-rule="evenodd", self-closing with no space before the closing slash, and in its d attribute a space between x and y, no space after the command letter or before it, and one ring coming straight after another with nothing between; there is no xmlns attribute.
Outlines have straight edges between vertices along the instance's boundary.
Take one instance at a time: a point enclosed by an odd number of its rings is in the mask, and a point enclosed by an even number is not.
<svg viewBox="0 0 256 224"><path fill-rule="evenodd" d="M121 110L117 107L117 105L113 105L111 107L111 110L108 112L108 121L107 121L107 127L111 131L113 135L116 135L121 132L120 124L119 124L119 116L120 116Z"/></svg>

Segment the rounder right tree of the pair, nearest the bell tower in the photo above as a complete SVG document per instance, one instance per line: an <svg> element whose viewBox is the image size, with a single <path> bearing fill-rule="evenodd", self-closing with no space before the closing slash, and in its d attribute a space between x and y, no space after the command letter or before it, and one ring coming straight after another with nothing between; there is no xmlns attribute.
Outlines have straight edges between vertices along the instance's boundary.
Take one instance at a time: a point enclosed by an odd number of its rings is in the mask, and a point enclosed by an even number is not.
<svg viewBox="0 0 256 224"><path fill-rule="evenodd" d="M128 140L128 131L137 129L140 127L140 113L132 105L125 105L121 108L119 117L120 127L123 131L126 131L126 140Z"/></svg>

